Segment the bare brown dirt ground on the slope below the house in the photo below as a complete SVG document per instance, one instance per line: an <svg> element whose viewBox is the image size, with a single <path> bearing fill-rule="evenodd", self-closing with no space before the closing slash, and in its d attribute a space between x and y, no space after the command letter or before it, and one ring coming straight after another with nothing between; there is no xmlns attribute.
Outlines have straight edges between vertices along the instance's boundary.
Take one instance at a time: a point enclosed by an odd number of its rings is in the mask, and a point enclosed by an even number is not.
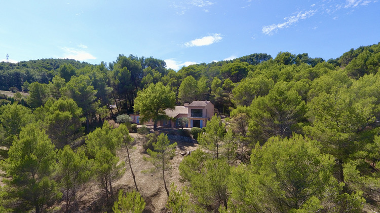
<svg viewBox="0 0 380 213"><path fill-rule="evenodd" d="M153 168L153 165L143 160L144 156L148 156L143 153L143 136L137 133L130 133L130 135L135 138L133 149L130 150L129 153L132 169L136 176L137 187L146 202L144 212L165 212L165 204L168 196L166 195L164 188L162 173L144 172ZM184 158L181 153L196 150L198 148L198 144L186 143L179 140L171 142L177 142L176 155L173 160L170 161L172 169L166 172L165 179L168 187L170 187L170 184L174 182L178 187L177 189L180 189L182 187L182 183L179 182L180 175L178 166ZM132 174L128 166L127 150L122 148L118 152L118 157L120 160L126 162L126 172L122 178L113 185L115 194L116 190L121 188L127 191L135 190ZM87 185L84 190L78 193L78 210L80 212L104 212L107 209L102 209L102 205L106 202L103 194L104 192L101 191L101 188L95 183Z"/></svg>

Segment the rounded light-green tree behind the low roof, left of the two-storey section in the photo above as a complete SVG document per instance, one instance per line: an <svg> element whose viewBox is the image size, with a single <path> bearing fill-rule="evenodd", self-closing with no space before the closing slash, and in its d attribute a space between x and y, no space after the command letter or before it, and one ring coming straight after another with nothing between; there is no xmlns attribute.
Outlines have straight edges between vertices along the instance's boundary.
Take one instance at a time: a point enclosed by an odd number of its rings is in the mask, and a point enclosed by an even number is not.
<svg viewBox="0 0 380 213"><path fill-rule="evenodd" d="M181 103L189 103L197 100L197 89L197 81L193 76L187 76L185 79L183 79L178 90L178 98L181 100Z"/></svg>

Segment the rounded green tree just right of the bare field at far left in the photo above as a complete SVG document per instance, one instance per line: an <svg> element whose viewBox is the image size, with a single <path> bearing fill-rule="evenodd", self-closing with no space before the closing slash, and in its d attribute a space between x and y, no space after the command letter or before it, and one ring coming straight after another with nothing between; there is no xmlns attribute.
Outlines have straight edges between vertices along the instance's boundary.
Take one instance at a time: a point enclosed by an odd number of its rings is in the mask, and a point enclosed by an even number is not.
<svg viewBox="0 0 380 213"><path fill-rule="evenodd" d="M47 84L40 84L33 82L29 85L28 104L32 108L37 108L45 105L49 97L49 90Z"/></svg>

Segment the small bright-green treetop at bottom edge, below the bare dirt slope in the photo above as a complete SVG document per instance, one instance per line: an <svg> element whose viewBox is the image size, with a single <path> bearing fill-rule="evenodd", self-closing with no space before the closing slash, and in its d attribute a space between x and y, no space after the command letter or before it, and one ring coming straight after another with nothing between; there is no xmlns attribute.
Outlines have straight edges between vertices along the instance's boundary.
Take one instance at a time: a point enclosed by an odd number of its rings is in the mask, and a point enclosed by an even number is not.
<svg viewBox="0 0 380 213"><path fill-rule="evenodd" d="M140 193L136 191L124 193L120 190L118 200L113 203L112 211L114 213L141 213L144 208L145 201Z"/></svg>

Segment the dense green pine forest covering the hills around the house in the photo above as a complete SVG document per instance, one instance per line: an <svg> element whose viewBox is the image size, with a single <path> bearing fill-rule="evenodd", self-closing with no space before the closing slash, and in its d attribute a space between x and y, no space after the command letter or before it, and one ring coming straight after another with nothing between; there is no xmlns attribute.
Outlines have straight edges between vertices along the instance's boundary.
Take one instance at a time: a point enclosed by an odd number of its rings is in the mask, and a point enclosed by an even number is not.
<svg viewBox="0 0 380 213"><path fill-rule="evenodd" d="M123 54L0 62L0 90L12 91L0 93L0 211L78 212L77 194L96 184L97 212L153 212L131 164L141 143L166 196L155 212L378 212L379 71L380 43L327 61L255 53L177 72ZM215 116L174 131L199 146L172 168L179 144L157 121L193 100ZM134 184L116 187L125 172Z"/></svg>

